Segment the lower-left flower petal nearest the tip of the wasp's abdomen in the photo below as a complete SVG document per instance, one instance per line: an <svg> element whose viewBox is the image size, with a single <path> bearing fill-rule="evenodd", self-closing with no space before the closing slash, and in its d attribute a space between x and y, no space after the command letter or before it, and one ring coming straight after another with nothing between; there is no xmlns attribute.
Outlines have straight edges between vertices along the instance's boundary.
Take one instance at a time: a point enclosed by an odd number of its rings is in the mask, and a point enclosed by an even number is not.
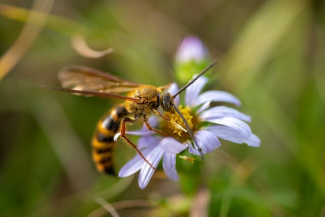
<svg viewBox="0 0 325 217"><path fill-rule="evenodd" d="M142 151L143 155L146 157L153 150L153 148L147 148ZM141 167L146 164L143 158L137 153L135 157L129 160L118 172L118 177L130 176L138 172Z"/></svg>

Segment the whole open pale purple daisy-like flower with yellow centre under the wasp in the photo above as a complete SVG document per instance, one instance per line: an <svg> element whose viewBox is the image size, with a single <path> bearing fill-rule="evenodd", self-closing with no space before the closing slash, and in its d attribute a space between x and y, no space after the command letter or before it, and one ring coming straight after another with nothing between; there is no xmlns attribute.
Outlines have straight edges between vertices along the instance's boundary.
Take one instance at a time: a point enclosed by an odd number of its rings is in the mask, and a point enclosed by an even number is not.
<svg viewBox="0 0 325 217"><path fill-rule="evenodd" d="M219 138L239 144L246 143L249 146L259 146L259 138L251 133L251 129L246 123L250 121L250 116L226 106L209 108L211 102L225 102L240 106L240 101L232 94L220 90L210 90L200 94L207 81L207 78L200 77L186 89L185 107L179 105L178 97L174 100L175 105L178 106L189 127L194 132L195 140L197 145L202 148L202 153L206 154L218 148L220 146ZM175 94L177 90L177 84L174 83L168 91ZM176 155L186 148L190 153L197 155L201 153L197 150L198 148L194 149L192 147L191 138L185 130L185 124L180 116L176 112L166 112L164 115L170 121L151 116L149 122L153 128L159 129L166 134L166 137L156 135L155 132L149 131L145 125L141 130L126 133L140 135L138 147L145 158L153 167L157 167L161 158L163 158L163 168L166 175L172 180L178 180ZM139 170L139 187L144 189L149 183L154 170L139 154L121 168L118 176L126 177Z"/></svg>

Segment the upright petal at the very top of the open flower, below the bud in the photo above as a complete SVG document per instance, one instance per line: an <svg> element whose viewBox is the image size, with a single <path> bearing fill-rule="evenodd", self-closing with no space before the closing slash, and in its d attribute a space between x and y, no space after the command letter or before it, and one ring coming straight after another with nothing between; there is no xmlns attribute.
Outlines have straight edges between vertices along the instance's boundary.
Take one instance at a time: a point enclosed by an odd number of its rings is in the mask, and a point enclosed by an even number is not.
<svg viewBox="0 0 325 217"><path fill-rule="evenodd" d="M194 81L194 83L187 87L185 91L185 105L193 106L196 103L201 90L207 82L208 79L204 76L201 76L198 78L198 80Z"/></svg>

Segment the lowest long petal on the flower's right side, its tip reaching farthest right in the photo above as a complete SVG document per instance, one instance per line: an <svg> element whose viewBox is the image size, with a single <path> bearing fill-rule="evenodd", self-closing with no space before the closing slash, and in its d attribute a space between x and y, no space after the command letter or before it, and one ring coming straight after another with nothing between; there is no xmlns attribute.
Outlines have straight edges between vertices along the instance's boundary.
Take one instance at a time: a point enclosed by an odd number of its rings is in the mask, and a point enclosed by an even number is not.
<svg viewBox="0 0 325 217"><path fill-rule="evenodd" d="M249 146L258 147L261 140L255 135L251 134L249 138L239 133L237 130L226 126L210 126L206 128L207 131L213 133L220 139L228 140L238 144L246 143Z"/></svg>

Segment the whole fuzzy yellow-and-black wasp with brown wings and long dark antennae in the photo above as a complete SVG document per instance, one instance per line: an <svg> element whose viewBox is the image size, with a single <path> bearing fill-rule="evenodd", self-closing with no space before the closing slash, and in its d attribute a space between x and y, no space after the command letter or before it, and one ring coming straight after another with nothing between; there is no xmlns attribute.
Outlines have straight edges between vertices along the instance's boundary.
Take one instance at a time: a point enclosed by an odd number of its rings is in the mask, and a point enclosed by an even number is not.
<svg viewBox="0 0 325 217"><path fill-rule="evenodd" d="M68 66L62 68L58 73L58 80L61 87L42 86L54 90L70 92L76 95L93 96L110 99L120 99L125 102L113 107L98 122L92 137L92 159L98 171L115 175L113 164L113 152L116 142L114 135L120 132L120 136L124 141L130 144L140 154L143 160L155 169L151 163L143 156L142 152L137 148L125 134L126 123L133 123L142 120L148 130L155 131L164 136L164 132L153 129L148 120L148 116L155 114L166 121L169 121L158 110L159 106L165 112L177 112L185 123L188 133L193 139L193 148L202 152L197 145L185 118L174 104L174 99L183 90L190 86L200 76L207 72L216 64L216 60L212 61L202 72L194 76L185 86L180 88L178 92L172 95L166 91L169 85L155 87L152 85L144 85L131 81L127 81L105 73L99 70L91 69L84 66ZM127 92L127 94L121 95Z"/></svg>

